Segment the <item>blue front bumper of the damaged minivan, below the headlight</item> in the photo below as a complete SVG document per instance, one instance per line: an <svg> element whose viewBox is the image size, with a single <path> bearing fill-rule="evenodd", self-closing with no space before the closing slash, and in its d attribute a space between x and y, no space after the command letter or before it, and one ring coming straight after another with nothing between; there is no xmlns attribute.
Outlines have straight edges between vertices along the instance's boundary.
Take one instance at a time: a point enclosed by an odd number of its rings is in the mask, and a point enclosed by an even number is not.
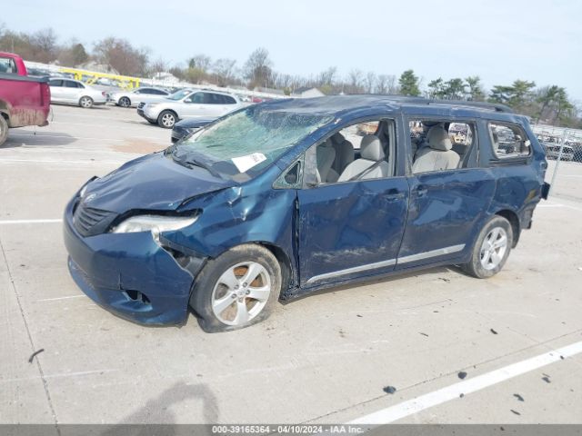
<svg viewBox="0 0 582 436"><path fill-rule="evenodd" d="M75 196L66 206L64 237L69 271L81 290L132 322L186 322L193 273L178 265L149 232L81 236L73 224L76 202Z"/></svg>

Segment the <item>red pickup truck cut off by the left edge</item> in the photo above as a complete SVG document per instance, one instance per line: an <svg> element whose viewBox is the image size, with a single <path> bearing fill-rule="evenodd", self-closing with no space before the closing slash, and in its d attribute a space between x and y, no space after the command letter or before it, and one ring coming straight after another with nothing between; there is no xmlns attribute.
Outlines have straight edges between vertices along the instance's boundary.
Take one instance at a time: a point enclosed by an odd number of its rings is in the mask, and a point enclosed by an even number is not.
<svg viewBox="0 0 582 436"><path fill-rule="evenodd" d="M20 56L0 52L0 145L9 127L48 124L50 104L48 77L26 75Z"/></svg>

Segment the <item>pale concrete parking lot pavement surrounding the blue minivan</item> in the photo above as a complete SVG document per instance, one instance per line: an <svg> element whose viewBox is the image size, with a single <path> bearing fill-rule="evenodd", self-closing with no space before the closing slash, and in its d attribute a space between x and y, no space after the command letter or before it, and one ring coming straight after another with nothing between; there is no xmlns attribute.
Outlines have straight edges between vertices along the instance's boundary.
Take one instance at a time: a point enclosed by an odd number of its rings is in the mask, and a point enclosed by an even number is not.
<svg viewBox="0 0 582 436"><path fill-rule="evenodd" d="M582 423L582 163L487 281L437 268L207 334L116 318L66 268L73 193L169 144L135 109L53 106L0 147L0 422Z"/></svg>

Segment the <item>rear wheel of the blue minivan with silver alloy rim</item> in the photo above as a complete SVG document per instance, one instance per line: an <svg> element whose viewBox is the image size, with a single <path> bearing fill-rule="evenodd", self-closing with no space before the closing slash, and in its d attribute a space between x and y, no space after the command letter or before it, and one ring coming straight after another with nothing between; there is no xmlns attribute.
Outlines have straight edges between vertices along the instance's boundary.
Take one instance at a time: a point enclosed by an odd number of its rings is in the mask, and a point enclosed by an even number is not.
<svg viewBox="0 0 582 436"><path fill-rule="evenodd" d="M471 252L471 260L462 265L465 272L487 279L501 271L513 245L513 229L502 216L495 215L481 229Z"/></svg>

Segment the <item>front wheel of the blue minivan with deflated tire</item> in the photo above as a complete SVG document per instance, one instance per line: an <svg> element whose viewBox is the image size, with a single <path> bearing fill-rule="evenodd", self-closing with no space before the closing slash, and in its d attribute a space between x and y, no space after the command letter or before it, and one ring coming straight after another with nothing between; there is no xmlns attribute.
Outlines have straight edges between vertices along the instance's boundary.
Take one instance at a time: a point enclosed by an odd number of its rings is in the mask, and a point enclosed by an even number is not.
<svg viewBox="0 0 582 436"><path fill-rule="evenodd" d="M245 281L249 270L255 276L251 282ZM227 332L265 320L280 292L276 257L265 247L244 244L206 263L196 277L190 306L205 332Z"/></svg>

